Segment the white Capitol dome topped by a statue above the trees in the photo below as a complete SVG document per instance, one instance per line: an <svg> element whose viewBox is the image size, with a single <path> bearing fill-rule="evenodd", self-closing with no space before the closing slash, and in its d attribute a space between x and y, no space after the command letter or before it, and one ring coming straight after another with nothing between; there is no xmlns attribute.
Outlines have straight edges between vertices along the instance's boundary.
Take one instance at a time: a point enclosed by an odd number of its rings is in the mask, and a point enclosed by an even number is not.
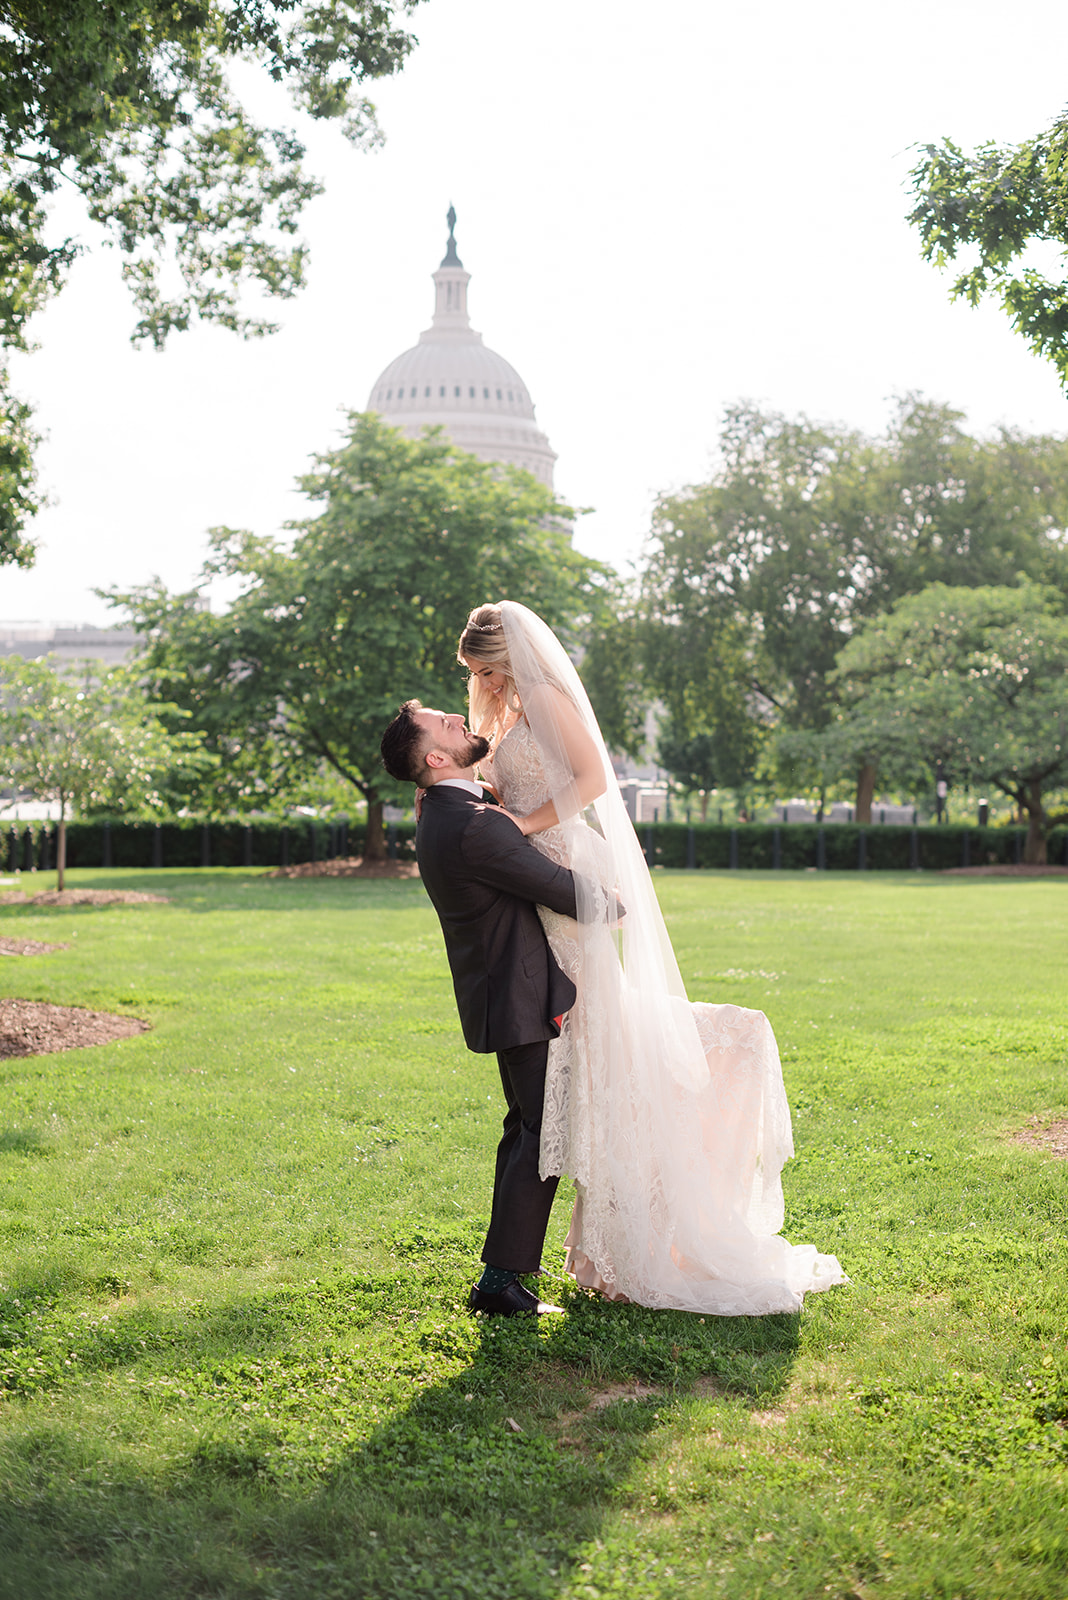
<svg viewBox="0 0 1068 1600"><path fill-rule="evenodd" d="M448 222L444 261L433 274L433 322L419 334L419 344L376 379L368 411L412 438L424 427L443 427L459 450L524 467L552 488L556 453L534 419L534 403L515 366L488 349L470 325L472 275L456 253L452 206Z"/></svg>

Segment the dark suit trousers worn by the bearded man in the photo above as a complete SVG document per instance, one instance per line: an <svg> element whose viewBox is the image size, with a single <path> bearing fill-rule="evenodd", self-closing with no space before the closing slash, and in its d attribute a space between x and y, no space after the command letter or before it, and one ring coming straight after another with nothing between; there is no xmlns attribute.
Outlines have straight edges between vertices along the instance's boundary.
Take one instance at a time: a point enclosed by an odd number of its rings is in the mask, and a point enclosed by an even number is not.
<svg viewBox="0 0 1068 1600"><path fill-rule="evenodd" d="M497 1146L489 1232L483 1261L512 1272L537 1272L558 1178L537 1176L548 1042L497 1053L507 1104Z"/></svg>

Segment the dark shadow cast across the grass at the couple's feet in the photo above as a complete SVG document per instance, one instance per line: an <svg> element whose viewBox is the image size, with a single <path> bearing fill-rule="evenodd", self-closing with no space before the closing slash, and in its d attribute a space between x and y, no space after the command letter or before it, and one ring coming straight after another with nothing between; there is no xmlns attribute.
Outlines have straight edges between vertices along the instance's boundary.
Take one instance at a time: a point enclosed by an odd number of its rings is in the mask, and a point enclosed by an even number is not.
<svg viewBox="0 0 1068 1600"><path fill-rule="evenodd" d="M122 1398L83 1432L56 1365L53 1403L14 1430L0 1595L552 1597L676 1400L702 1379L763 1408L798 1346L788 1315L702 1322L564 1290L563 1318L472 1320L438 1296L404 1269L197 1315L83 1317L80 1344L70 1317L56 1352L96 1374L90 1413Z"/></svg>

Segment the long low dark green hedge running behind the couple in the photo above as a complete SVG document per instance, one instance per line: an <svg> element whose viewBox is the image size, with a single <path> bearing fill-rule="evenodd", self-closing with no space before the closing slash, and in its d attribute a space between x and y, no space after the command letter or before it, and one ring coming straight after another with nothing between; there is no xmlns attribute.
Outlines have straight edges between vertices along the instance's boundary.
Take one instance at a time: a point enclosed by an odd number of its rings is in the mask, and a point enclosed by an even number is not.
<svg viewBox="0 0 1068 1600"><path fill-rule="evenodd" d="M855 822L640 822L651 867L769 870L938 872L1023 859L1023 827L860 827ZM414 856L414 822L389 824L390 853ZM67 822L69 867L278 867L363 853L363 824L347 818L261 818L254 822ZM1068 827L1049 835L1049 861L1068 866ZM56 864L54 824L13 824L0 834L0 867L46 870Z"/></svg>

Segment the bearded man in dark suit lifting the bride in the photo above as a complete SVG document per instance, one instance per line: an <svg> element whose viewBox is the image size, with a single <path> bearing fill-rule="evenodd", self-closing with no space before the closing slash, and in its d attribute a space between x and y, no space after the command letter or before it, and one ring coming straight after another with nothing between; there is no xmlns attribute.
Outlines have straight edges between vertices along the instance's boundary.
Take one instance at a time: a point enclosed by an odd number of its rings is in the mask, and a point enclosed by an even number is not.
<svg viewBox="0 0 1068 1600"><path fill-rule="evenodd" d="M576 917L566 867L540 854L492 805L473 768L489 754L464 718L408 701L382 736L392 778L425 789L416 858L441 922L468 1050L496 1051L507 1104L497 1146L484 1272L470 1309L504 1317L558 1310L520 1283L537 1272L556 1178L539 1178L548 1040L576 1002L536 904Z"/></svg>

